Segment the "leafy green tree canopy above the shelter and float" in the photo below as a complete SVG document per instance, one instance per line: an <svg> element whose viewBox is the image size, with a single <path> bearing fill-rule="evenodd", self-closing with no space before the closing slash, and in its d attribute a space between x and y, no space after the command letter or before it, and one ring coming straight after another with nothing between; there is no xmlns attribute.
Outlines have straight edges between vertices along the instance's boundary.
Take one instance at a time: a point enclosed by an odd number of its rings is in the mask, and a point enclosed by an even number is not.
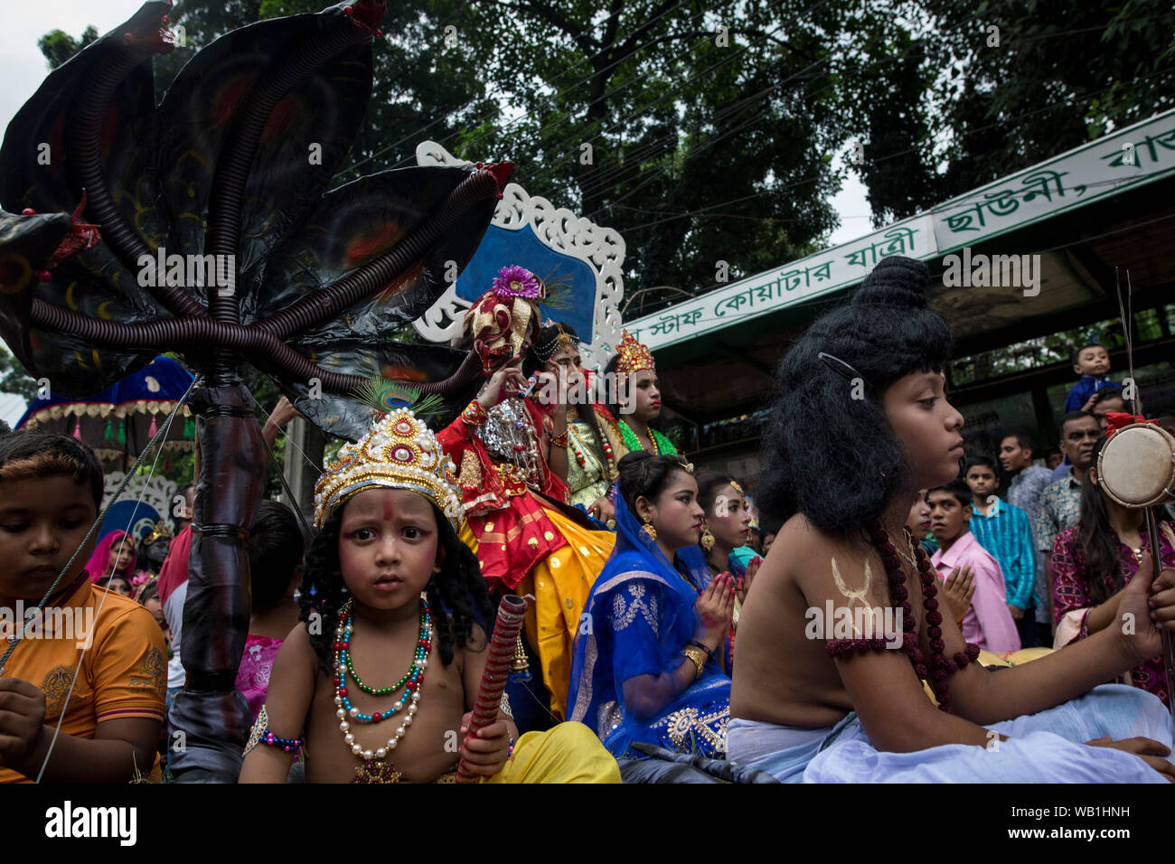
<svg viewBox="0 0 1175 864"><path fill-rule="evenodd" d="M184 2L160 91L217 35L322 5ZM673 287L640 314L820 248L834 153L882 225L1170 107L1173 24L1162 0L405 0L336 180L412 165L427 139L510 159L622 233L629 296Z"/></svg>

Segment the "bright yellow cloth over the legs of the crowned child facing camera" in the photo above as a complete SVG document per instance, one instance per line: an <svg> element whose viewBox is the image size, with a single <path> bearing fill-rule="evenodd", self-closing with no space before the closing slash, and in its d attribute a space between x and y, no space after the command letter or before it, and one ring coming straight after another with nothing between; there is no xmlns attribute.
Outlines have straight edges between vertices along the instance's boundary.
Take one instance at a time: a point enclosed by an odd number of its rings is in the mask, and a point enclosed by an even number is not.
<svg viewBox="0 0 1175 864"><path fill-rule="evenodd" d="M482 783L619 783L620 766L583 723L526 732L505 766Z"/></svg>

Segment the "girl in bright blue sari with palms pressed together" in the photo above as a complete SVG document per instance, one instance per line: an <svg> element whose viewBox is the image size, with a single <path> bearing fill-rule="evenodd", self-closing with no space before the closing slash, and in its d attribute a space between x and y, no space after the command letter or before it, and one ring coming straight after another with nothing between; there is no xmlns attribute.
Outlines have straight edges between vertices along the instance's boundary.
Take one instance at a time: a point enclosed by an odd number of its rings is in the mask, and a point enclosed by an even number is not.
<svg viewBox="0 0 1175 864"><path fill-rule="evenodd" d="M619 463L616 548L584 607L568 696L569 719L615 756L632 742L726 751L734 581L711 580L697 547L691 471L680 456L646 451Z"/></svg>

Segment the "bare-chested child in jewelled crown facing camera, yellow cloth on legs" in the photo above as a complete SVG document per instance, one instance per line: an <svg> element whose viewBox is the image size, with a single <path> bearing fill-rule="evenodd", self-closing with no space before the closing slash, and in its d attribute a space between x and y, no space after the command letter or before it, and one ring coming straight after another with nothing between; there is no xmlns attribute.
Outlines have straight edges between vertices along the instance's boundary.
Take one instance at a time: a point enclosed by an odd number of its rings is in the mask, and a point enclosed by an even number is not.
<svg viewBox="0 0 1175 864"><path fill-rule="evenodd" d="M463 756L489 782L618 782L582 725L512 749L503 704L465 737L486 659L475 618L491 609L459 524L454 464L410 410L338 451L315 488L304 624L277 652L241 782L286 781L298 750L311 783L446 782Z"/></svg>

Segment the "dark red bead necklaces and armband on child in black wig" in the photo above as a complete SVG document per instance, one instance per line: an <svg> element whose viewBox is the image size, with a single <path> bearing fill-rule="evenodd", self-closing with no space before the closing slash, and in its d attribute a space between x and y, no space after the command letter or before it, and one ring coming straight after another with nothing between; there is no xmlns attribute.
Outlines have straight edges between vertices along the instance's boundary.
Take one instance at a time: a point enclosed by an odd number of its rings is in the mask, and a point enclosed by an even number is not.
<svg viewBox="0 0 1175 864"><path fill-rule="evenodd" d="M909 542L909 536L906 533L907 542ZM939 611L934 571L931 568L931 560L926 557L926 551L921 545L914 545L911 542L911 550L918 558L918 575L922 583L922 605L926 607L926 623L928 625L926 635L931 642L931 656L926 657L918 647L914 608L909 604L909 592L906 590L906 571L901 567L901 558L898 557L898 550L889 540L888 533L880 523L870 529L870 540L881 556L882 564L885 564L886 576L889 582L889 598L893 603L901 604L901 650L909 658L909 663L914 667L914 672L918 677L929 683L931 690L934 692L934 698L939 703L939 710L951 714L951 695L947 691L947 678L951 672L966 669L967 664L975 661L979 656L979 645L968 642L965 651L959 651L951 658L944 656L946 643L942 642L942 628L939 627L942 623L942 614ZM887 643L888 639L884 638L884 636L868 639L828 639L825 644L825 650L831 657L840 657L855 651L885 650Z"/></svg>

